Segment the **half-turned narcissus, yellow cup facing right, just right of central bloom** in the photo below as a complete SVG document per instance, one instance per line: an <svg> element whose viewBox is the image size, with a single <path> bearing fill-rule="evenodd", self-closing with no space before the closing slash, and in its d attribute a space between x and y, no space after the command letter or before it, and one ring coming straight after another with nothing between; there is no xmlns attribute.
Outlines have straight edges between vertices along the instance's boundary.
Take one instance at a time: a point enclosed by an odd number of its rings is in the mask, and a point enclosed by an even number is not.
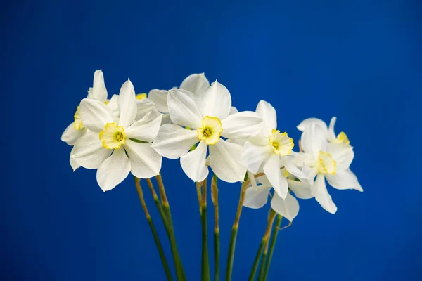
<svg viewBox="0 0 422 281"><path fill-rule="evenodd" d="M300 171L290 159L293 149L293 139L287 133L277 130L276 110L269 103L261 100L257 105L257 114L264 120L264 127L253 138L246 141L243 147L242 162L252 174L264 171L275 192L281 198L288 195L288 183L281 175L280 168L305 181L305 174Z"/></svg>

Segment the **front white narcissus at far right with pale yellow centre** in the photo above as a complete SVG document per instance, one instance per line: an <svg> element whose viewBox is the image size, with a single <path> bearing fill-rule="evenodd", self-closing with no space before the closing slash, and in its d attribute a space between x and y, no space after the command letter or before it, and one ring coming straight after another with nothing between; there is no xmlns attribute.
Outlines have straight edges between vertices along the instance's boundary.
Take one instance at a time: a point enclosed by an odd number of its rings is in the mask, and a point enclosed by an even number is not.
<svg viewBox="0 0 422 281"><path fill-rule="evenodd" d="M356 176L350 171L354 152L347 143L328 143L326 131L319 124L305 126L302 133L302 148L304 153L296 155L296 164L302 164L302 169L308 178L316 179L311 185L311 192L316 201L331 214L337 207L328 194L325 179L339 190L355 189L363 192Z"/></svg>

